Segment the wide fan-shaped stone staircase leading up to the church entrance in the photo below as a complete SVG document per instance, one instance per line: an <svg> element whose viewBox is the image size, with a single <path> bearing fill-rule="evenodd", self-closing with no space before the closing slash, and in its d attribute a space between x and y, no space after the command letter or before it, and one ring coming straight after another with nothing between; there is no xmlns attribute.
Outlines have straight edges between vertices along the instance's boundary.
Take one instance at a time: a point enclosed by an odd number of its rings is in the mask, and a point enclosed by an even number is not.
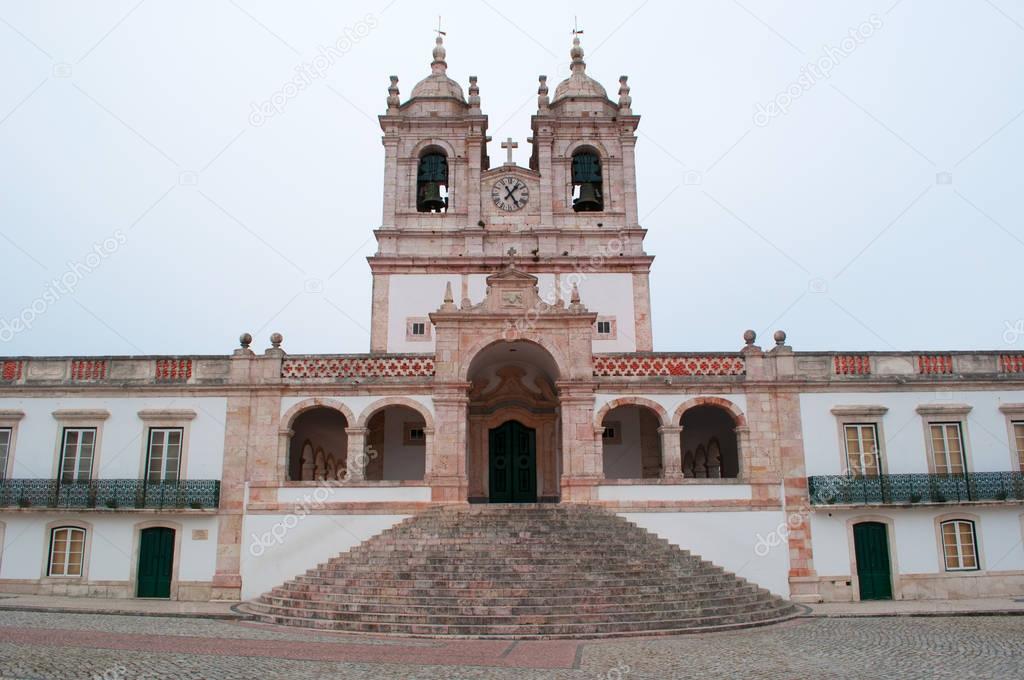
<svg viewBox="0 0 1024 680"><path fill-rule="evenodd" d="M659 635L775 623L797 607L610 512L432 508L241 609L350 633Z"/></svg>

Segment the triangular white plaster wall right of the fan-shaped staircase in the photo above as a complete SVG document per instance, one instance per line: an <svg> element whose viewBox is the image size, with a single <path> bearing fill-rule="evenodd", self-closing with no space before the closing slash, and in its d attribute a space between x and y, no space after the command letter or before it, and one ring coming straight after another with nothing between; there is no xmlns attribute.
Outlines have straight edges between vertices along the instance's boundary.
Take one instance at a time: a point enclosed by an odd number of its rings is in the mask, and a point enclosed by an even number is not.
<svg viewBox="0 0 1024 680"><path fill-rule="evenodd" d="M620 513L670 543L733 573L790 596L788 551L784 545L758 554L761 538L785 525L780 511Z"/></svg>

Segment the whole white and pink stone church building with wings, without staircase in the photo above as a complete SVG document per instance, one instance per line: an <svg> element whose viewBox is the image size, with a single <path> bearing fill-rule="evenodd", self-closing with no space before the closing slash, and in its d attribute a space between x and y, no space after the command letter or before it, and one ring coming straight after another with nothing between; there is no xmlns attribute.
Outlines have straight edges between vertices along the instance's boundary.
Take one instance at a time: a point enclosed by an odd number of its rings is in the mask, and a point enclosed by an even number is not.
<svg viewBox="0 0 1024 680"><path fill-rule="evenodd" d="M251 599L439 504L563 503L797 601L1024 594L1024 354L654 352L640 119L570 58L526 168L440 38L391 78L369 353L0 359L0 591Z"/></svg>

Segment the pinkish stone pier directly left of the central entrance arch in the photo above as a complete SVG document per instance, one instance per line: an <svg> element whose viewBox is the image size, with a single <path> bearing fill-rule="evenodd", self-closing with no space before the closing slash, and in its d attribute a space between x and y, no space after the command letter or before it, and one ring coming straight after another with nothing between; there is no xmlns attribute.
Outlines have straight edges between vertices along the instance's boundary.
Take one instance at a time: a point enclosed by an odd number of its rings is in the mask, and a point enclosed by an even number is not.
<svg viewBox="0 0 1024 680"><path fill-rule="evenodd" d="M468 498L467 424L469 383L435 385L434 437L428 447L431 500L464 503Z"/></svg>

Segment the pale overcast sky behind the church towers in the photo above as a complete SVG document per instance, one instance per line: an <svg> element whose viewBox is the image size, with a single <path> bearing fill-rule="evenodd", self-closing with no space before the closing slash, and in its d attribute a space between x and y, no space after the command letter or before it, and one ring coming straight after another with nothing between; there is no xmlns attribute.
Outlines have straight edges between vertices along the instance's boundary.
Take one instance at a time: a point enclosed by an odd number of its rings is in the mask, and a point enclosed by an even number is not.
<svg viewBox="0 0 1024 680"><path fill-rule="evenodd" d="M630 76L655 349L1024 350L1020 0L6 0L0 355L368 351L376 117L438 13L495 164L574 14Z"/></svg>

